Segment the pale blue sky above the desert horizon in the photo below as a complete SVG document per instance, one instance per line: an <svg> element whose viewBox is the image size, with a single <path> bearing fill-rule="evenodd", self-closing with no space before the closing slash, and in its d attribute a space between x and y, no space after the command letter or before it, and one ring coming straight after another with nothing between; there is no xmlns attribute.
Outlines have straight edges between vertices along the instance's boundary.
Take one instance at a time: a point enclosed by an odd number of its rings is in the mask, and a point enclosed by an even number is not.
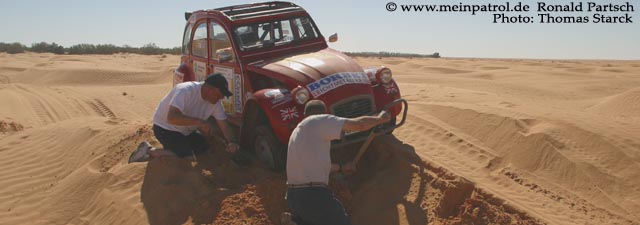
<svg viewBox="0 0 640 225"><path fill-rule="evenodd" d="M640 59L640 3L631 24L494 24L491 13L389 12L401 4L482 4L516 0L325 0L294 1L314 18L330 47L340 51L390 51L445 57L540 59ZM570 1L538 0L548 4ZM255 1L223 0L2 0L0 42L47 41L161 47L179 46L184 12ZM537 7L535 2L523 1ZM574 2L580 2L578 0ZM587 0L584 1L586 4ZM602 3L621 0L595 1ZM591 16L564 13L560 16ZM526 16L535 16L529 12ZM624 13L610 13L624 15Z"/></svg>

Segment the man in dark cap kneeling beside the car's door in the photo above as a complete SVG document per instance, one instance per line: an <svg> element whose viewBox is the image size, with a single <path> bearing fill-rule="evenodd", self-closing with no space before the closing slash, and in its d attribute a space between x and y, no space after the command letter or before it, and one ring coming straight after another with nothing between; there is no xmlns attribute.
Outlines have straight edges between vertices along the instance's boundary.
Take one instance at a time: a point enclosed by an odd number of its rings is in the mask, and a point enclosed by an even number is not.
<svg viewBox="0 0 640 225"><path fill-rule="evenodd" d="M160 101L153 115L153 133L163 149L142 142L129 156L129 163L144 162L150 158L177 156L191 158L206 152L209 143L201 133L209 133L213 116L227 142L227 151L235 153L238 144L227 124L227 115L220 100L231 96L227 80L221 74L212 74L204 82L177 84Z"/></svg>

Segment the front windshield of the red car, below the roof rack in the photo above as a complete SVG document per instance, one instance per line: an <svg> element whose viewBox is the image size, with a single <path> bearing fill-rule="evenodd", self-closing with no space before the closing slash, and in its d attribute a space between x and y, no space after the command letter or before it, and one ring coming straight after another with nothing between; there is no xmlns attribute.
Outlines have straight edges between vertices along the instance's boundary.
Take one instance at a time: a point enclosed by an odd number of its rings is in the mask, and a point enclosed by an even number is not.
<svg viewBox="0 0 640 225"><path fill-rule="evenodd" d="M309 17L260 22L236 27L240 50L253 50L317 38L318 31Z"/></svg>

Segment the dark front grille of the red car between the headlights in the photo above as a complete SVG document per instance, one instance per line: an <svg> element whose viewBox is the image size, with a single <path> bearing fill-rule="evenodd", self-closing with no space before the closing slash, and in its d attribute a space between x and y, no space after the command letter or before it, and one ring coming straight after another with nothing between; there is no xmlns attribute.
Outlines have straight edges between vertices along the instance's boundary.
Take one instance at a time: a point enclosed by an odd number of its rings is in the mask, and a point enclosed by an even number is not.
<svg viewBox="0 0 640 225"><path fill-rule="evenodd" d="M370 96L355 96L331 106L333 115L346 118L355 118L369 115L373 112L373 100Z"/></svg>

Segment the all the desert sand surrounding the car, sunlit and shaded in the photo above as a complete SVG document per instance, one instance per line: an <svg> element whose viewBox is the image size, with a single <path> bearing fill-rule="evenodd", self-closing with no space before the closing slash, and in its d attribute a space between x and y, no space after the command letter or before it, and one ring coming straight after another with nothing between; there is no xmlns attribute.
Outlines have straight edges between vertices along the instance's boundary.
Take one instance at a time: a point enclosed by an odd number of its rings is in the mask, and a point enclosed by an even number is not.
<svg viewBox="0 0 640 225"><path fill-rule="evenodd" d="M410 109L332 181L354 224L640 224L640 61L356 60ZM215 143L126 163L178 62L0 53L0 224L279 224L285 175Z"/></svg>

